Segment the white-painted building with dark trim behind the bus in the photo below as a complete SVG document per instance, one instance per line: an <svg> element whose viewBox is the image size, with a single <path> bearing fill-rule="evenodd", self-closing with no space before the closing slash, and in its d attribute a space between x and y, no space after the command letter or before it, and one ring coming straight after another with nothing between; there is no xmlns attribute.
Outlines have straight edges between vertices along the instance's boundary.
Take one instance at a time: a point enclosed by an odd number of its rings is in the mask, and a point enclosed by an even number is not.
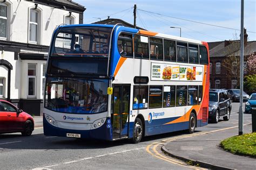
<svg viewBox="0 0 256 170"><path fill-rule="evenodd" d="M82 24L84 11L71 0L0 1L1 99L42 115L52 32L60 24Z"/></svg>

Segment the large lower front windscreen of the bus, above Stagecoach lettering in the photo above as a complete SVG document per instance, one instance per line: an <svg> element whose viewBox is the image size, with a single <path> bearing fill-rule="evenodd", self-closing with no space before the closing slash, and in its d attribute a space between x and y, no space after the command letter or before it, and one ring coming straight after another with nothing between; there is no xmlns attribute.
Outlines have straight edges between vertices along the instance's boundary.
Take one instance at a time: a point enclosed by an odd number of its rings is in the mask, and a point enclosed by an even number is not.
<svg viewBox="0 0 256 170"><path fill-rule="evenodd" d="M105 79L74 79L48 77L45 108L70 114L96 114L107 111Z"/></svg>

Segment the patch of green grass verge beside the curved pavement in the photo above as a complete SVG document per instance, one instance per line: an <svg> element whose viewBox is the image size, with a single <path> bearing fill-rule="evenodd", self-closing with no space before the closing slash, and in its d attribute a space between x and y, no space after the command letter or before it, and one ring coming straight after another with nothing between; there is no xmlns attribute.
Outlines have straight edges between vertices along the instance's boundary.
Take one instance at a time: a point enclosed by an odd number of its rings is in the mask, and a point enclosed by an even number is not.
<svg viewBox="0 0 256 170"><path fill-rule="evenodd" d="M227 138L220 146L231 153L256 158L256 132Z"/></svg>

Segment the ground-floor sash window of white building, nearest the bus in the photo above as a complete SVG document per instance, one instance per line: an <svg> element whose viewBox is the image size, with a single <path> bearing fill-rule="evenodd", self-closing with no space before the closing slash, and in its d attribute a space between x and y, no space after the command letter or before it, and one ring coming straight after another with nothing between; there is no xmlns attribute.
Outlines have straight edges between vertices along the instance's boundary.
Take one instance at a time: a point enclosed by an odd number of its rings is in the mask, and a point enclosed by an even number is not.
<svg viewBox="0 0 256 170"><path fill-rule="evenodd" d="M36 97L36 63L28 63L28 97Z"/></svg>

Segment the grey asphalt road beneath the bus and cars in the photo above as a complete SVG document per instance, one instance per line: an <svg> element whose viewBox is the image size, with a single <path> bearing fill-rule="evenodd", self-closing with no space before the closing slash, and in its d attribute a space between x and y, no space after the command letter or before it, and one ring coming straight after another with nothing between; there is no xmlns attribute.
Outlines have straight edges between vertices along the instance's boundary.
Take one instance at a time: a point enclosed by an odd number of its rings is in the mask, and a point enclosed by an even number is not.
<svg viewBox="0 0 256 170"><path fill-rule="evenodd" d="M230 121L208 124L197 128L195 133L237 126L239 103L232 103L232 107ZM251 115L244 115L244 123L251 123ZM39 127L31 137L22 137L19 133L0 134L0 165L1 169L198 169L164 155L156 145L187 135L190 134L182 131L167 133L131 144L129 140L46 137Z"/></svg>

